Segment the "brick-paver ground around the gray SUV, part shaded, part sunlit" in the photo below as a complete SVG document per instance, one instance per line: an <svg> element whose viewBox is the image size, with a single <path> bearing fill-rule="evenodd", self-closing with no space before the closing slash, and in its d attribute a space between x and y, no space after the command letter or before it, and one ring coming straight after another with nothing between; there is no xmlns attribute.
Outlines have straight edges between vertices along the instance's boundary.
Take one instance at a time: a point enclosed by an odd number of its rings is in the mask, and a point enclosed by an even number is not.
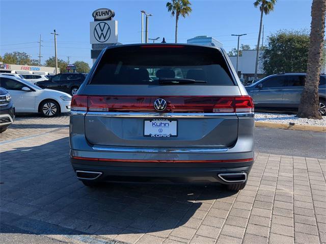
<svg viewBox="0 0 326 244"><path fill-rule="evenodd" d="M326 159L257 152L238 193L94 189L70 166L68 122L21 117L0 135L1 243L326 243Z"/></svg>

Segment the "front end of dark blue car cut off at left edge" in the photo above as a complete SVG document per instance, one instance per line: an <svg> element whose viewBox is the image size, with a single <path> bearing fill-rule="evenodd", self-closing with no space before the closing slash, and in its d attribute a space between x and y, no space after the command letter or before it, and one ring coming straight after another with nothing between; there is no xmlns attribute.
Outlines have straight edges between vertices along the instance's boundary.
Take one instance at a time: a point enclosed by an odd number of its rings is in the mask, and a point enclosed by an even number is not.
<svg viewBox="0 0 326 244"><path fill-rule="evenodd" d="M1 76L0 76L1 79ZM8 91L0 87L0 133L4 132L15 119L15 107Z"/></svg>

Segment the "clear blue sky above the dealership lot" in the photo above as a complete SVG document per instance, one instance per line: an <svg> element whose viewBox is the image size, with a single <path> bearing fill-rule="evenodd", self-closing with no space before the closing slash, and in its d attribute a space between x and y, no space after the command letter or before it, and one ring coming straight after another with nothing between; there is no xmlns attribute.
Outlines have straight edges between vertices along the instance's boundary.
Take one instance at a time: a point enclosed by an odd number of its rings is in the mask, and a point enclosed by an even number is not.
<svg viewBox="0 0 326 244"><path fill-rule="evenodd" d="M89 22L98 8L110 8L118 21L118 41L123 44L140 43L141 10L153 14L149 21L149 38L165 37L174 41L175 19L167 11L166 1L15 1L0 0L0 55L24 51L38 59L39 35L42 35L42 62L54 56L53 29L57 30L58 57L70 63L90 58ZM248 33L241 43L257 44L259 10L254 0L204 1L193 0L191 16L179 20L178 41L207 35L220 40L226 50L236 47L231 34ZM311 0L279 0L274 12L264 16L265 37L281 29L310 28ZM266 39L265 39L266 40Z"/></svg>

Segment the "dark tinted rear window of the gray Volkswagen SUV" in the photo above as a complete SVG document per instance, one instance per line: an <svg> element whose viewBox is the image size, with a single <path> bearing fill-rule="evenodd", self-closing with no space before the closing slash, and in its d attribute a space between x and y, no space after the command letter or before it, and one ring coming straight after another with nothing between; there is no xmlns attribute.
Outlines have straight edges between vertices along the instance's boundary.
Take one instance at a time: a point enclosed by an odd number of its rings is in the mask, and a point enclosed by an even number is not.
<svg viewBox="0 0 326 244"><path fill-rule="evenodd" d="M218 49L200 46L126 46L107 49L91 85L220 85L233 86Z"/></svg>

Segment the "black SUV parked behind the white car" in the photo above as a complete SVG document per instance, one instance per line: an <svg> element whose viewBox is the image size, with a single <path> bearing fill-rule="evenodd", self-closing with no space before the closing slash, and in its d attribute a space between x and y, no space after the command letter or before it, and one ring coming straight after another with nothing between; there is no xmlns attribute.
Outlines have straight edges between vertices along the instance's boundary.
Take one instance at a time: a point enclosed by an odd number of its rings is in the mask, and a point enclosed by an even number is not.
<svg viewBox="0 0 326 244"><path fill-rule="evenodd" d="M37 82L41 88L53 89L75 95L86 75L82 73L62 73L49 76L48 80Z"/></svg>

